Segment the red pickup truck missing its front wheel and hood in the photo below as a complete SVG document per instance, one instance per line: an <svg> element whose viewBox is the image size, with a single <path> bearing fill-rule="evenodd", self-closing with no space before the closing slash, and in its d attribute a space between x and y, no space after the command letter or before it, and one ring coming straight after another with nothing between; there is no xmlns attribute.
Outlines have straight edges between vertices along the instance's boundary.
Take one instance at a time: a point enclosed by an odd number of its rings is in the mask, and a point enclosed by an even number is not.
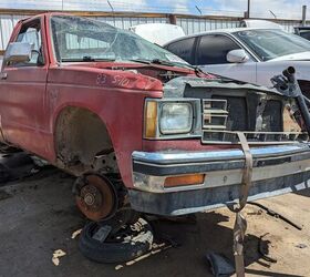
<svg viewBox="0 0 310 277"><path fill-rule="evenodd" d="M296 98L205 74L106 23L21 20L0 79L1 143L78 176L91 219L124 205L194 213L238 201L244 186L249 199L309 186Z"/></svg>

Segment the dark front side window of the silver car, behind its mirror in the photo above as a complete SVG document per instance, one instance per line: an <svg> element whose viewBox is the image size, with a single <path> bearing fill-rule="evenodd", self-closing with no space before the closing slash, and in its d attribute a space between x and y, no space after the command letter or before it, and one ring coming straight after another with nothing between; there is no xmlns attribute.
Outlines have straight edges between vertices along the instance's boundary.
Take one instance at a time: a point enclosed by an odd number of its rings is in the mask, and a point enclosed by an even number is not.
<svg viewBox="0 0 310 277"><path fill-rule="evenodd" d="M229 63L226 59L230 50L240 47L230 38L221 34L208 34L200 38L196 54L196 64L221 64Z"/></svg>

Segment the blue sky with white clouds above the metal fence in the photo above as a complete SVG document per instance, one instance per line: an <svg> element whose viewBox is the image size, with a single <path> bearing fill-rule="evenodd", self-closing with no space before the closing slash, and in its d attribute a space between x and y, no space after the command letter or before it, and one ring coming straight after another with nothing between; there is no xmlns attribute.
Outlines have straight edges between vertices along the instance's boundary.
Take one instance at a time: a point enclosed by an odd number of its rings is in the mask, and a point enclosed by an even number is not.
<svg viewBox="0 0 310 277"><path fill-rule="evenodd" d="M108 0L115 11L176 12L241 17L247 0ZM252 17L300 19L301 7L310 0L251 0ZM110 10L107 0L0 0L0 8ZM196 8L197 7L197 8ZM198 11L200 10L200 11ZM272 13L271 13L272 12ZM308 16L308 18L310 18Z"/></svg>

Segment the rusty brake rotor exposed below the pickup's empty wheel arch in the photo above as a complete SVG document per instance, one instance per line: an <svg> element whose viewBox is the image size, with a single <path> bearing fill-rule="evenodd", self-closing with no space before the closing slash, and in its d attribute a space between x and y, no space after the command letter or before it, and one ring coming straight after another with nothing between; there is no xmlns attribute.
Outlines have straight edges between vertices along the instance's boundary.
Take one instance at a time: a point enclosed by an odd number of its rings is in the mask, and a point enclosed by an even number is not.
<svg viewBox="0 0 310 277"><path fill-rule="evenodd" d="M95 174L89 174L75 196L80 211L91 220L102 220L116 212L117 195L112 183Z"/></svg>

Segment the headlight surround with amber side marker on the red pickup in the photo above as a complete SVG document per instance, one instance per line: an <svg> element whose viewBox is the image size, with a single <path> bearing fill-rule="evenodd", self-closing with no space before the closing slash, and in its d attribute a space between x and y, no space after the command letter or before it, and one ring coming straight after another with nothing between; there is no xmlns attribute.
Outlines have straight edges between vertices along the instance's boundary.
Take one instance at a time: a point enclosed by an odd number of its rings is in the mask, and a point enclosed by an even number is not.
<svg viewBox="0 0 310 277"><path fill-rule="evenodd" d="M192 124L188 130L163 132L161 130L161 116L165 105L185 104L190 106ZM151 112L152 110L152 112ZM170 140L202 136L202 105L199 99L146 99L144 106L144 138ZM151 117L149 117L151 116ZM152 125L152 130L149 130Z"/></svg>

